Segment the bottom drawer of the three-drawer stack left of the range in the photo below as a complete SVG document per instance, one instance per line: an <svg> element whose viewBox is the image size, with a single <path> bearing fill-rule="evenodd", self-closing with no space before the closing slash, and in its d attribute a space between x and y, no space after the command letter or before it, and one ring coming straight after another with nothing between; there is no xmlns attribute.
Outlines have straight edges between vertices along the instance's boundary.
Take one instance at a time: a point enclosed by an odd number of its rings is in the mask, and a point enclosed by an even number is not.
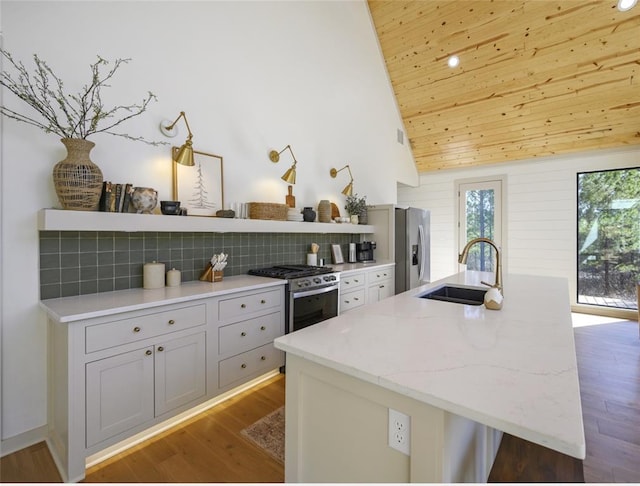
<svg viewBox="0 0 640 486"><path fill-rule="evenodd" d="M284 353L266 344L246 353L233 356L218 363L220 388L231 385L261 371L279 368L284 364Z"/></svg>

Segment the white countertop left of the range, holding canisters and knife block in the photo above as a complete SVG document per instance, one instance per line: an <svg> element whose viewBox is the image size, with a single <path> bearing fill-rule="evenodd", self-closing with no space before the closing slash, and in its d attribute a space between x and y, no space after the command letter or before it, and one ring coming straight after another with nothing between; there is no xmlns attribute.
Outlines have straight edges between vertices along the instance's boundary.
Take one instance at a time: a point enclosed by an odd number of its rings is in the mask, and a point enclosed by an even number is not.
<svg viewBox="0 0 640 486"><path fill-rule="evenodd" d="M75 322L120 312L149 309L167 304L218 297L244 290L257 290L285 285L285 280L236 275L221 282L184 282L177 287L159 289L127 289L40 301L47 315L58 322Z"/></svg>

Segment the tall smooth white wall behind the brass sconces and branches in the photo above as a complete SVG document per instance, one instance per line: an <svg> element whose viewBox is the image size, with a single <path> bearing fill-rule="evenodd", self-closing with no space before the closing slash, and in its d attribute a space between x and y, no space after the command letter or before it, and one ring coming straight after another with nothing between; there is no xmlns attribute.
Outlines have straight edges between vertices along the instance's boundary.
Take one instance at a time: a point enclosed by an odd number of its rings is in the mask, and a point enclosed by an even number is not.
<svg viewBox="0 0 640 486"><path fill-rule="evenodd" d="M187 113L197 150L224 157L226 201L283 202L272 149L298 159L297 205L343 206L350 164L369 203L396 200L391 173L411 174L402 121L364 0L0 2L3 47L31 65L37 53L77 92L96 55L131 58L105 89L108 105L158 96L123 130L156 140L158 126ZM23 108L4 93L4 103ZM180 125L182 143L186 130ZM46 421L46 330L38 307L36 213L57 205L51 182L64 158L55 135L2 125L2 438ZM171 198L170 151L98 135L91 156L105 179L154 187ZM395 171L392 167L395 166ZM10 284L10 285L9 285Z"/></svg>

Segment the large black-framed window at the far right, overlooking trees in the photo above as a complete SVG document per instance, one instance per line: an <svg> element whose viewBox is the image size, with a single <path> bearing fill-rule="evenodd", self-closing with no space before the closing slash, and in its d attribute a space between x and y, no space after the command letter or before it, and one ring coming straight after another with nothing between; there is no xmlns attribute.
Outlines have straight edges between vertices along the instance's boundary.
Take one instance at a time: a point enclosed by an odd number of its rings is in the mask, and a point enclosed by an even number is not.
<svg viewBox="0 0 640 486"><path fill-rule="evenodd" d="M640 168L578 174L579 304L637 309Z"/></svg>

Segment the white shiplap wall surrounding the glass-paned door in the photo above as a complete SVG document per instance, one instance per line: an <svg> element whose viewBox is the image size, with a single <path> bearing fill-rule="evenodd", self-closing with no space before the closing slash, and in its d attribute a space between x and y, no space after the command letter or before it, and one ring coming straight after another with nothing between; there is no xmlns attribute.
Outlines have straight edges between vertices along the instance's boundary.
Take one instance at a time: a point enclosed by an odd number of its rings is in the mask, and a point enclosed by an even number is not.
<svg viewBox="0 0 640 486"><path fill-rule="evenodd" d="M431 279L437 280L462 268L457 262L456 181L506 176L505 272L566 277L575 304L576 174L639 166L636 147L425 173L418 187L399 187L398 204L431 210Z"/></svg>

